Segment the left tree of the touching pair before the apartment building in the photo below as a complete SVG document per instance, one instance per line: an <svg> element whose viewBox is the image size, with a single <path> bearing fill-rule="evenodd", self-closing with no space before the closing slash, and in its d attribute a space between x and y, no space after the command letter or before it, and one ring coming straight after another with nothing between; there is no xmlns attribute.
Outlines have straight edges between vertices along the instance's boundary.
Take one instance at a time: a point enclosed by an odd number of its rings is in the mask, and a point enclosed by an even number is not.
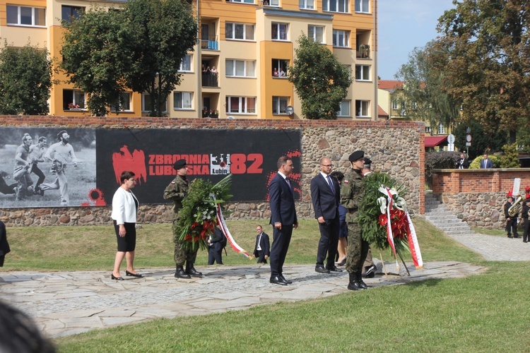
<svg viewBox="0 0 530 353"><path fill-rule="evenodd" d="M76 88L88 93L90 114L105 116L125 91L124 72L131 62L131 36L122 11L95 8L64 21L61 68Z"/></svg>

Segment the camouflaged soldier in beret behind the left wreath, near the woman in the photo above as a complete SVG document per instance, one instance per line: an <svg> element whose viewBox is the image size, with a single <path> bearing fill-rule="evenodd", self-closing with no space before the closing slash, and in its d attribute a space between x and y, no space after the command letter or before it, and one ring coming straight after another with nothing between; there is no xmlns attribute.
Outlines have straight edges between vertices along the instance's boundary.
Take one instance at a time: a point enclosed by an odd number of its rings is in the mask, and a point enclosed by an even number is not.
<svg viewBox="0 0 530 353"><path fill-rule="evenodd" d="M177 177L171 181L171 184L167 186L164 190L164 198L166 200L172 200L175 203L173 211L173 242L175 243L175 253L173 253L173 258L177 265L177 270L175 271L175 277L177 278L191 278L201 277L202 273L195 270L193 264L197 257L197 249L192 251L182 248L182 242L179 239L177 224L179 222L179 210L182 209L182 200L188 195L188 179L186 175L188 174L188 167L186 165L186 160L177 160L173 164L173 168L177 171ZM186 270L184 270L184 262L186 263Z"/></svg>

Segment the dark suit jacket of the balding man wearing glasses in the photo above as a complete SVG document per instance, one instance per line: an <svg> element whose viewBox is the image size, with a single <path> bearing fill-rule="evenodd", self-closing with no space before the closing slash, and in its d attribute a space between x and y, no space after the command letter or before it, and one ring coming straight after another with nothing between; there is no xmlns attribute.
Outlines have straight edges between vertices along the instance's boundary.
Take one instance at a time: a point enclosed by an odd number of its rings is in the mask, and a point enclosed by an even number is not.
<svg viewBox="0 0 530 353"><path fill-rule="evenodd" d="M311 200L313 202L314 217L324 217L324 220L333 220L338 216L338 203L340 203L341 189L335 177L331 177L335 192L331 191L328 182L322 173L311 179Z"/></svg>

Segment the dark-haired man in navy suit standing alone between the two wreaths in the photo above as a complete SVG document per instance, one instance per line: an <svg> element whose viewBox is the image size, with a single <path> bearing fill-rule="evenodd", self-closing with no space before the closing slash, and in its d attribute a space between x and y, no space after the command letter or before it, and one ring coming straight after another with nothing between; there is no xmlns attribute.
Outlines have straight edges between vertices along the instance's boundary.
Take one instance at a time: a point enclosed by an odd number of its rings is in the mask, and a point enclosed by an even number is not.
<svg viewBox="0 0 530 353"><path fill-rule="evenodd" d="M295 192L288 175L293 172L293 160L290 157L278 159L278 173L269 184L271 203L271 222L273 236L271 246L271 283L289 285L291 281L283 277L283 263L289 249L293 228L298 227L295 209Z"/></svg>

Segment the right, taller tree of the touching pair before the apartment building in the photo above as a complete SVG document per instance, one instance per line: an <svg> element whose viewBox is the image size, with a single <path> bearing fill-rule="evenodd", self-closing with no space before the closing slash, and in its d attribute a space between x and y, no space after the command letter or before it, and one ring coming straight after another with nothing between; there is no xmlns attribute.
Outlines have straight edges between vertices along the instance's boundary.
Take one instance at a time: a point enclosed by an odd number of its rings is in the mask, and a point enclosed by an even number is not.
<svg viewBox="0 0 530 353"><path fill-rule="evenodd" d="M126 85L151 97L151 116L163 116L167 96L179 85L184 56L196 44L192 6L182 0L130 0L124 5L132 36Z"/></svg>

